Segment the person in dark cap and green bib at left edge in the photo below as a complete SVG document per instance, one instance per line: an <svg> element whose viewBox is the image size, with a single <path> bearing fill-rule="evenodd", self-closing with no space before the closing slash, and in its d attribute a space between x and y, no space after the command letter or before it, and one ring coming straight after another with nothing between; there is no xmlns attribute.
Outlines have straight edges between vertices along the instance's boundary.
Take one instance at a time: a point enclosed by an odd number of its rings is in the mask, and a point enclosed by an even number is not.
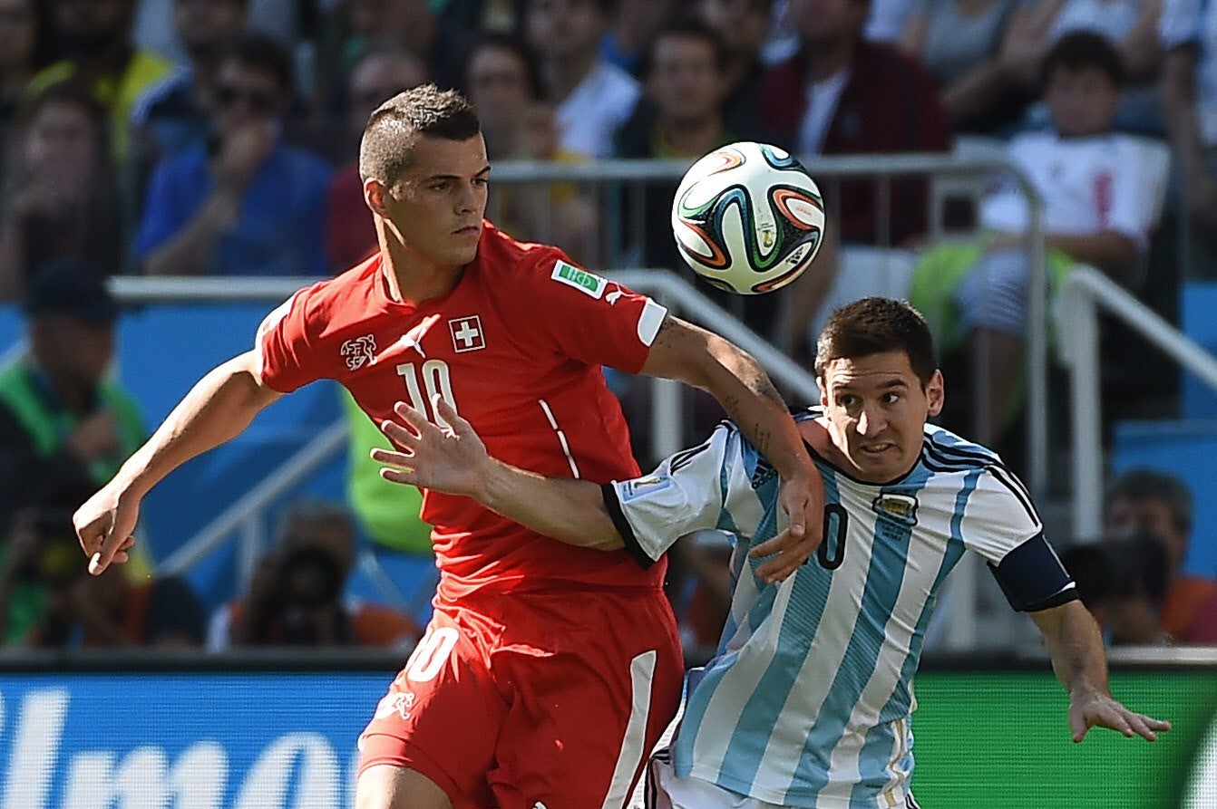
<svg viewBox="0 0 1217 809"><path fill-rule="evenodd" d="M24 308L29 352L0 370L0 530L24 506L77 505L146 436L135 400L106 378L118 304L101 274L52 263Z"/></svg>

